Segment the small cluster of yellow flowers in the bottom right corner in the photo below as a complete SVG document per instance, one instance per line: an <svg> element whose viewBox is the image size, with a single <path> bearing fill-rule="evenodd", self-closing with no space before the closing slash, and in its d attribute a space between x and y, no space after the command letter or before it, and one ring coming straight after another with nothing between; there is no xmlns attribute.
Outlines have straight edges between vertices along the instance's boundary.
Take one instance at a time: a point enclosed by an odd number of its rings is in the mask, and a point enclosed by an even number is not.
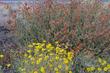
<svg viewBox="0 0 110 73"><path fill-rule="evenodd" d="M100 64L100 67L93 67L93 66L87 67L86 71L88 71L88 72L93 72L93 71L108 72L108 71L110 71L110 64L107 63L106 60L103 60L103 59L99 58L98 63Z"/></svg>

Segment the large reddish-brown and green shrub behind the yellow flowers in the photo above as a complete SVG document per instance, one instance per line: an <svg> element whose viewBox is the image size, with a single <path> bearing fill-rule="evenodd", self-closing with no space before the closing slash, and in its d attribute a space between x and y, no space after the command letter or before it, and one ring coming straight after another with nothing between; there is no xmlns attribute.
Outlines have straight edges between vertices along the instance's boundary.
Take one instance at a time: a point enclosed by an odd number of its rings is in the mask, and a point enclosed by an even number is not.
<svg viewBox="0 0 110 73"><path fill-rule="evenodd" d="M98 54L102 51L99 48L105 48L109 43L108 19L109 13L96 0L71 0L65 5L47 0L44 5L36 3L32 7L25 4L17 18L18 38L22 44L30 39L35 41L36 37L39 41L59 40L68 42L72 48L80 42Z"/></svg>

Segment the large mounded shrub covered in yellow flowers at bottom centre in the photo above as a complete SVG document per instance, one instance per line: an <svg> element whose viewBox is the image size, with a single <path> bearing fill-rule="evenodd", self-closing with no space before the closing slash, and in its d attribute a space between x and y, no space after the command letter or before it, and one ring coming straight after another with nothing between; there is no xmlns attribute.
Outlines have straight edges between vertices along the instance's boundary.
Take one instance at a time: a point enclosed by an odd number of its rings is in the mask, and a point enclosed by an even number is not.
<svg viewBox="0 0 110 73"><path fill-rule="evenodd" d="M61 48L58 42L55 45L46 41L29 44L23 58L21 73L72 73L73 52Z"/></svg>

